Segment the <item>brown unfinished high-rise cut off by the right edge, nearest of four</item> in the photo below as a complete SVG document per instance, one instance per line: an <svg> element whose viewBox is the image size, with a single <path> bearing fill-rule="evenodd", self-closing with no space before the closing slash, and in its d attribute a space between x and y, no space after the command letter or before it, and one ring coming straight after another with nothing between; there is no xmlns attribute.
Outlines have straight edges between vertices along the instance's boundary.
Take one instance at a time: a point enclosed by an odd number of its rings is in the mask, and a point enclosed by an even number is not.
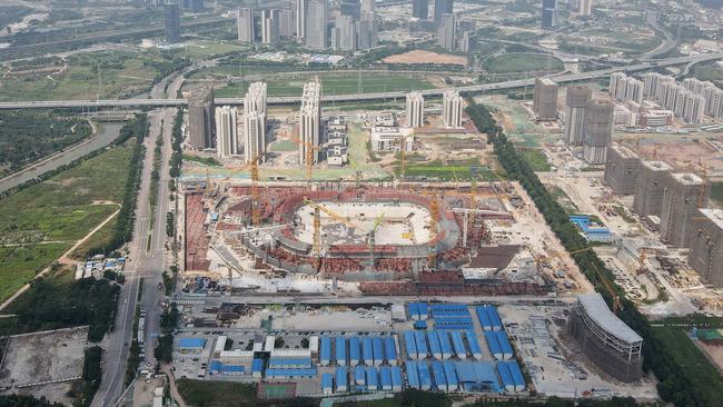
<svg viewBox="0 0 723 407"><path fill-rule="evenodd" d="M689 246L691 268L704 284L723 287L723 210L697 210Z"/></svg>

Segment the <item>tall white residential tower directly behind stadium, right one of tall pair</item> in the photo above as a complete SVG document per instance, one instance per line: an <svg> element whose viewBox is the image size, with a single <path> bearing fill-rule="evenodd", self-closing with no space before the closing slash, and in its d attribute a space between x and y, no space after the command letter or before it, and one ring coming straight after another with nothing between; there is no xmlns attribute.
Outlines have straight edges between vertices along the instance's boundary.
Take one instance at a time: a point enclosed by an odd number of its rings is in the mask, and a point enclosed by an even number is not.
<svg viewBox="0 0 723 407"><path fill-rule="evenodd" d="M319 160L321 136L321 85L318 81L304 83L301 108L299 109L299 162L306 163L307 149L311 149L314 163Z"/></svg>

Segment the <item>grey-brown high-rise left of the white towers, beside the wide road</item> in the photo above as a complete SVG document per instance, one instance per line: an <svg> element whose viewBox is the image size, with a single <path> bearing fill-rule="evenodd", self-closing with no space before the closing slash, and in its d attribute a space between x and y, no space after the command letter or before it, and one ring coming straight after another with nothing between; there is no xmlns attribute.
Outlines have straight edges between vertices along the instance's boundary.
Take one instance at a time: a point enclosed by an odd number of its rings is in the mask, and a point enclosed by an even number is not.
<svg viewBox="0 0 723 407"><path fill-rule="evenodd" d="M212 148L216 109L214 106L214 87L201 85L188 96L188 142L197 150Z"/></svg>

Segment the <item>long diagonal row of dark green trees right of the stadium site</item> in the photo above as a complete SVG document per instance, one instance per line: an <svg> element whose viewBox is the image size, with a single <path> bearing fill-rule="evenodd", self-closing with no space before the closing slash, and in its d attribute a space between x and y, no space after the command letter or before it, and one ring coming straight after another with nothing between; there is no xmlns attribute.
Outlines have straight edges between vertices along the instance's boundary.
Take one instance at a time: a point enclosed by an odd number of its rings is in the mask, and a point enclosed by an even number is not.
<svg viewBox="0 0 723 407"><path fill-rule="evenodd" d="M504 130L497 126L489 110L474 101L468 101L467 113L477 129L487 133L487 141L494 146L495 153L511 179L519 181L532 197L537 208L543 214L551 229L563 242L567 251L588 247L587 241L577 232L570 221L567 214L557 200L547 191L539 178L535 175L527 161L517 153L514 145L507 139ZM587 279L601 292L608 305L613 304L613 296L607 292L602 279L606 279L614 287L615 296L621 299L622 311L618 317L644 339L643 356L644 369L652 371L658 379L657 391L660 396L675 406L711 406L697 394L691 380L684 376L672 349L666 347L654 335L647 318L642 315L635 304L625 297L624 291L614 282L613 274L605 266L595 251L585 250L572 256ZM720 391L721 389L711 389Z"/></svg>

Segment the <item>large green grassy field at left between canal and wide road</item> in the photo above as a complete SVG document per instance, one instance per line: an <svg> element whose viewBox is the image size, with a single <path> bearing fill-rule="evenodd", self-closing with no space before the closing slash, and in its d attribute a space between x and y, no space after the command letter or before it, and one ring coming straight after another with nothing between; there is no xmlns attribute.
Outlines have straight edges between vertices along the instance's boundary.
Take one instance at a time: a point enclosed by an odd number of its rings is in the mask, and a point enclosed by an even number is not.
<svg viewBox="0 0 723 407"><path fill-rule="evenodd" d="M0 200L0 300L118 209L131 153L132 141Z"/></svg>

